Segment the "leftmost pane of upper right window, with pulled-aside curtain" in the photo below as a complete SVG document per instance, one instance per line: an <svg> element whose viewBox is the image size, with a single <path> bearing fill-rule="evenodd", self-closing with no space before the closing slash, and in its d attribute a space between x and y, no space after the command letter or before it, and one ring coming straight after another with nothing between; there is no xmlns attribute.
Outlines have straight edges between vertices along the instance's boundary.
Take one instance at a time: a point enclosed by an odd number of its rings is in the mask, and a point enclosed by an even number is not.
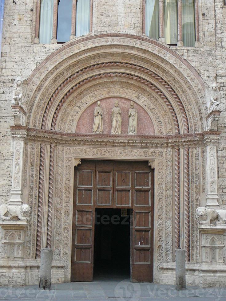
<svg viewBox="0 0 226 301"><path fill-rule="evenodd" d="M159 38L159 0L146 0L145 33L153 39Z"/></svg>

